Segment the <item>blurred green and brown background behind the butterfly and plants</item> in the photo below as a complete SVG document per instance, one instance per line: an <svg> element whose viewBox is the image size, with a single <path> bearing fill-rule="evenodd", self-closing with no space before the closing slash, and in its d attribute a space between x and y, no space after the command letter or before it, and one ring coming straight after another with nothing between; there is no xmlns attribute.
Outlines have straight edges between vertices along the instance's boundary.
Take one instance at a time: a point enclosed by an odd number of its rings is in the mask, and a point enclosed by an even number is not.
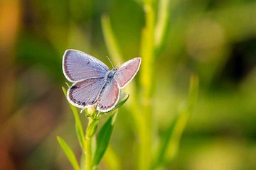
<svg viewBox="0 0 256 170"><path fill-rule="evenodd" d="M169 169L256 169L256 1L172 0L170 10L155 63L160 135L186 100L191 73L200 90ZM56 140L63 137L80 157L61 89L62 57L73 48L111 66L100 23L105 14L124 60L139 56L144 11L137 1L0 1L0 169L72 169ZM110 145L122 168L132 169L136 136L125 107ZM104 160L100 169L107 169Z"/></svg>

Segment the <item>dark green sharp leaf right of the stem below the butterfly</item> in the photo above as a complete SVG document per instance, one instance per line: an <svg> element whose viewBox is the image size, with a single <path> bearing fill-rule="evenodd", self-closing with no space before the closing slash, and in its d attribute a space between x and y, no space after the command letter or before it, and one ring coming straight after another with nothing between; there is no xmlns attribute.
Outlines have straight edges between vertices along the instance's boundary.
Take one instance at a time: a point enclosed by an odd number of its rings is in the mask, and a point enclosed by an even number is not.
<svg viewBox="0 0 256 170"><path fill-rule="evenodd" d="M93 158L93 165L97 166L102 159L107 146L110 143L110 137L112 135L112 130L114 128L114 121L117 117L117 111L110 115L110 118L106 121L106 123L100 129L100 132L97 135L97 148L95 152L95 157Z"/></svg>

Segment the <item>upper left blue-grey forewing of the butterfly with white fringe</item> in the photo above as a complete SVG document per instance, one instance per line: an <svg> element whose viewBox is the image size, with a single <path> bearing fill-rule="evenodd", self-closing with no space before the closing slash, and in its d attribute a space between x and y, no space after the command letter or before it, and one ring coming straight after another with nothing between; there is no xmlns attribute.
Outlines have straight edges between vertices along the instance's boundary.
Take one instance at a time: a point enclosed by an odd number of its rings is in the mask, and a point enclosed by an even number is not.
<svg viewBox="0 0 256 170"><path fill-rule="evenodd" d="M71 82L105 77L109 70L100 60L78 50L66 50L63 55L63 73Z"/></svg>

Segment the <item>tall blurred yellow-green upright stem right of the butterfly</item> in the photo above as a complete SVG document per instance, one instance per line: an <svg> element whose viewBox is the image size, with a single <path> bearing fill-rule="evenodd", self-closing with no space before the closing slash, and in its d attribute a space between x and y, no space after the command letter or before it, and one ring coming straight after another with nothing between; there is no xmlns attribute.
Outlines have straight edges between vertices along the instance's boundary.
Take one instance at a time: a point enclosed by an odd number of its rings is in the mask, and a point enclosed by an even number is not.
<svg viewBox="0 0 256 170"><path fill-rule="evenodd" d="M139 167L138 169L146 170L151 164L151 148L154 136L154 125L152 123L153 113L151 109L151 94L152 81L154 73L154 26L155 26L155 11L153 4L144 5L146 26L142 32L142 103L141 115L139 119Z"/></svg>

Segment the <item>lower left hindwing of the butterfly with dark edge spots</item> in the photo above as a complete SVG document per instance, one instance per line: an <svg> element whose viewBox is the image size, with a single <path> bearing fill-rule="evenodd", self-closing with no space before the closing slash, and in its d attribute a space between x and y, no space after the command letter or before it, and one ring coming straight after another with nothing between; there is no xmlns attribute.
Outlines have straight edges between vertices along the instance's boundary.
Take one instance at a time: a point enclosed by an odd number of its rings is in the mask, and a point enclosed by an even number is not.
<svg viewBox="0 0 256 170"><path fill-rule="evenodd" d="M94 105L104 84L104 77L78 81L68 89L68 101L79 108Z"/></svg>

